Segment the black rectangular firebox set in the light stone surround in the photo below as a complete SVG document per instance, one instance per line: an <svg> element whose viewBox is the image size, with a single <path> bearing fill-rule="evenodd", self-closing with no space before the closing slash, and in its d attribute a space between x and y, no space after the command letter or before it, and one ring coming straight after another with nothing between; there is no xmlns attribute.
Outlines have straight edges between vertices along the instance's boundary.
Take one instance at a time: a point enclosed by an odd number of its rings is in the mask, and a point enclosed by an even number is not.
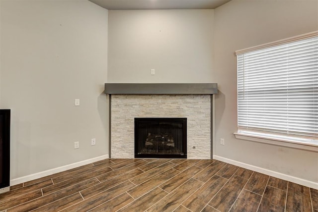
<svg viewBox="0 0 318 212"><path fill-rule="evenodd" d="M135 118L135 158L187 158L187 118Z"/></svg>

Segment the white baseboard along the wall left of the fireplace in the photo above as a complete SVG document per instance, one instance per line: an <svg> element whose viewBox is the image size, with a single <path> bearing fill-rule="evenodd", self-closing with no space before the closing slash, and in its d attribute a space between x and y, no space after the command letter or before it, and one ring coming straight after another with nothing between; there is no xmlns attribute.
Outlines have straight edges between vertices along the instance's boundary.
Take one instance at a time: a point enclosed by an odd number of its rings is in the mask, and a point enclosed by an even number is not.
<svg viewBox="0 0 318 212"><path fill-rule="evenodd" d="M24 182L27 182L27 181L30 181L30 180L35 180L35 179L38 179L38 178L41 178L41 177L45 177L45 176L48 176L48 175L51 175L51 174L59 173L61 171L66 171L66 170L69 170L71 168L76 168L76 167L79 167L81 165L86 165L88 163L92 163L92 162L96 162L98 160L108 159L108 158L109 158L109 155L103 155L103 156L99 156L99 157L96 157L96 158L86 159L86 160L82 160L82 161L75 162L75 163L72 163L72 164L60 166L60 167L57 167L57 168L52 168L52 169L49 169L49 170L46 170L46 171L41 171L41 172L38 172L38 173L30 174L30 175L27 175L27 176L11 179L10 180L10 186L17 185L19 183L24 183Z"/></svg>

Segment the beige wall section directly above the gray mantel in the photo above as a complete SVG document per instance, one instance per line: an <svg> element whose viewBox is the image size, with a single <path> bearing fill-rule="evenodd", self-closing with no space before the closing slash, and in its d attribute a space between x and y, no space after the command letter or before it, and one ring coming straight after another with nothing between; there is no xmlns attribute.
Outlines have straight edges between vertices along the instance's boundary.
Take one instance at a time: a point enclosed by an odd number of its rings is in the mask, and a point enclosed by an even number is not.
<svg viewBox="0 0 318 212"><path fill-rule="evenodd" d="M213 12L109 10L108 82L215 82Z"/></svg>

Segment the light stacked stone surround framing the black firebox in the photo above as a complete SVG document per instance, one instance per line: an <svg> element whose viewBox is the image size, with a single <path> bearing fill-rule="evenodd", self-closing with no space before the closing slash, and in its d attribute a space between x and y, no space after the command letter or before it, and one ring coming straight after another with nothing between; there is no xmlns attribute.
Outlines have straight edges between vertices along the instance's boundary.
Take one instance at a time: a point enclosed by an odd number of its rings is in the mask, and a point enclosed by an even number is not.
<svg viewBox="0 0 318 212"><path fill-rule="evenodd" d="M111 95L111 158L134 158L135 117L187 118L187 158L211 159L210 95Z"/></svg>

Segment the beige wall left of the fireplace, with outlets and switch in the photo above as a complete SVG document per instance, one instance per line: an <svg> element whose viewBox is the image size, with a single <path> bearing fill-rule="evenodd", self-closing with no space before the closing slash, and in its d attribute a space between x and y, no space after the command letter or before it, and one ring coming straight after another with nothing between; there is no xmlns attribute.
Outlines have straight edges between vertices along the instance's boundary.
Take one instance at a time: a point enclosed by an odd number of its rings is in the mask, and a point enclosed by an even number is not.
<svg viewBox="0 0 318 212"><path fill-rule="evenodd" d="M0 13L10 178L107 155L108 11L87 0L0 0Z"/></svg>

